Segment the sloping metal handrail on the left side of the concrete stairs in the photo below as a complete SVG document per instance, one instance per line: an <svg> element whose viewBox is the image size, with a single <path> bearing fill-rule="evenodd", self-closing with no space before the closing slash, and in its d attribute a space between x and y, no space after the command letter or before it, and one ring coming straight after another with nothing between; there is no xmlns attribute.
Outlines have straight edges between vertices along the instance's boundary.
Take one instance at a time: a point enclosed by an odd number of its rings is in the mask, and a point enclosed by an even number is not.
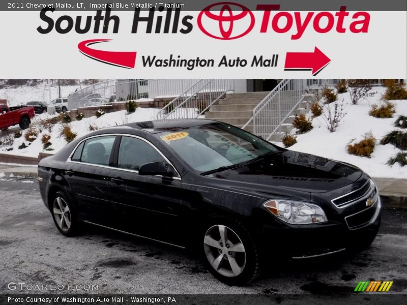
<svg viewBox="0 0 407 305"><path fill-rule="evenodd" d="M232 79L201 79L169 102L157 113L157 119L197 118L227 92L234 91Z"/></svg>

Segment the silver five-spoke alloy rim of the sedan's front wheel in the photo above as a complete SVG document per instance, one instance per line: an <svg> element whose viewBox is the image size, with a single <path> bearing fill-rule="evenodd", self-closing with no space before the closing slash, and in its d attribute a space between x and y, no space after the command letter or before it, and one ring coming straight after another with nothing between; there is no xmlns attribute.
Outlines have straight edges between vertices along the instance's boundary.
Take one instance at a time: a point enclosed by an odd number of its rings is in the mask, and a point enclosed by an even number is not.
<svg viewBox="0 0 407 305"><path fill-rule="evenodd" d="M210 265L224 277L239 276L246 265L243 242L232 229L214 225L203 238L203 248Z"/></svg>

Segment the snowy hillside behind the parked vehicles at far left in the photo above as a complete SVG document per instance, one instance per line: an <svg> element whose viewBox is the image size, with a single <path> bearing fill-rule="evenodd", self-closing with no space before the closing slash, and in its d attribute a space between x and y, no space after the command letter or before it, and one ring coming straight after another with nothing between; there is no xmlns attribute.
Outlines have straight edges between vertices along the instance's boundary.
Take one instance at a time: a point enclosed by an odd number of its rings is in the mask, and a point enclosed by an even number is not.
<svg viewBox="0 0 407 305"><path fill-rule="evenodd" d="M61 86L61 97L68 95L80 89L79 85ZM58 98L58 86L51 86L51 100ZM0 89L0 99L7 99L10 106L25 104L30 101L49 101L48 82L43 81L35 86L5 86Z"/></svg>

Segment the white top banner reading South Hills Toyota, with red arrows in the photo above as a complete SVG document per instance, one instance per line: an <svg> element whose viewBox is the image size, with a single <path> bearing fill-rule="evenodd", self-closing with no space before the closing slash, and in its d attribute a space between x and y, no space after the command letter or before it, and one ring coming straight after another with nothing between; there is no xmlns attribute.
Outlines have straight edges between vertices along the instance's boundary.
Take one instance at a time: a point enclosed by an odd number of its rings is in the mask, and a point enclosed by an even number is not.
<svg viewBox="0 0 407 305"><path fill-rule="evenodd" d="M406 6L2 2L0 78L405 79Z"/></svg>

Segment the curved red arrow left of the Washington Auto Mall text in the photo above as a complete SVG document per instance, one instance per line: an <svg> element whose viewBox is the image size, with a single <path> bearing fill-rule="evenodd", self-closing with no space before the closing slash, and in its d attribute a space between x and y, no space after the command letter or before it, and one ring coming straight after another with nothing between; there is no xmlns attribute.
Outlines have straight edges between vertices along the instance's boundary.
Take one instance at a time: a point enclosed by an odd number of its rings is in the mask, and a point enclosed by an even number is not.
<svg viewBox="0 0 407 305"><path fill-rule="evenodd" d="M78 49L83 55L98 60L99 62L122 68L134 69L137 52L102 51L89 47L95 43L106 41L111 41L111 39L85 40L78 44Z"/></svg>

